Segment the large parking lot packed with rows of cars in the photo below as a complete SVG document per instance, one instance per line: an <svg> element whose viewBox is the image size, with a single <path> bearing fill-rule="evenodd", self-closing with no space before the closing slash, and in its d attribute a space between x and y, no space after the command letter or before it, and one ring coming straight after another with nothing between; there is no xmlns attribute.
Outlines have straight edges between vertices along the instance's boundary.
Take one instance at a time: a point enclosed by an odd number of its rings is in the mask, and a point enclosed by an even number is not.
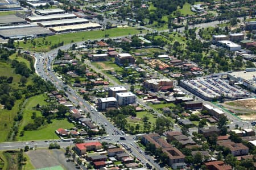
<svg viewBox="0 0 256 170"><path fill-rule="evenodd" d="M202 77L194 80L182 80L187 89L196 94L201 94L205 98L218 98L224 94L226 98L246 97L245 90L238 89L229 84L228 80L220 77Z"/></svg>

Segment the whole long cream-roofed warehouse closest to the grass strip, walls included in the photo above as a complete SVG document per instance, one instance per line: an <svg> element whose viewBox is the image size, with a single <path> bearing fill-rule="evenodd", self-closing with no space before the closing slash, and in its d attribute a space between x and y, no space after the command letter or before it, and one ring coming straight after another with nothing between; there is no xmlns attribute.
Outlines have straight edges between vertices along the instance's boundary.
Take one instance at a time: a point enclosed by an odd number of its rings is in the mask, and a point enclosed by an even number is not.
<svg viewBox="0 0 256 170"><path fill-rule="evenodd" d="M98 30L101 29L101 25L98 23L85 23L85 24L76 24L72 26L59 26L51 27L49 30L53 32L68 32L68 31L83 31L83 30Z"/></svg>

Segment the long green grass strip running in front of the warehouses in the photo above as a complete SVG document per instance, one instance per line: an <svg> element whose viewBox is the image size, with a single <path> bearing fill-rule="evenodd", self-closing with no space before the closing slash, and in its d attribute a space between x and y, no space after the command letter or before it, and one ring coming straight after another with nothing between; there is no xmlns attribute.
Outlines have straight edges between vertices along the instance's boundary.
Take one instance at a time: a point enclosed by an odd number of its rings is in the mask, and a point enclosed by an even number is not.
<svg viewBox="0 0 256 170"><path fill-rule="evenodd" d="M115 36L123 36L123 35L134 35L139 34L139 30L137 28L133 27L125 27L125 28L112 28L110 30L97 30L97 31L84 31L84 32L72 32L68 34L58 34L53 36L47 36L46 38L37 38L34 39L34 42L36 42L35 48L32 45L31 41L28 40L26 44L23 42L16 42L15 45L18 47L21 47L23 49L27 49L30 51L49 51L50 46L53 44L58 44L59 42L64 42L64 44L69 44L71 42L81 42L82 40L89 40L89 39L104 39L105 35L108 34L109 37L115 37ZM43 42L51 42L51 45L45 44ZM43 45L38 45L39 43Z"/></svg>

